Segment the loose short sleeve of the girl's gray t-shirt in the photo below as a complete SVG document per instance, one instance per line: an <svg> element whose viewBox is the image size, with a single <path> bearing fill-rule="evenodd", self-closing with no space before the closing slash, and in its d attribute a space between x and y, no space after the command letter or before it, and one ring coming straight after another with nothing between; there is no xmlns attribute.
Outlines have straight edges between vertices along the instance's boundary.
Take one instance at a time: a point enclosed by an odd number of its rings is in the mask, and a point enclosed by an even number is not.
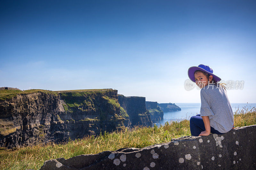
<svg viewBox="0 0 256 170"><path fill-rule="evenodd" d="M209 116L209 119L212 119L214 117L214 114L212 112L212 109L209 105L209 99L207 94L201 90L201 108L200 108L200 116Z"/></svg>

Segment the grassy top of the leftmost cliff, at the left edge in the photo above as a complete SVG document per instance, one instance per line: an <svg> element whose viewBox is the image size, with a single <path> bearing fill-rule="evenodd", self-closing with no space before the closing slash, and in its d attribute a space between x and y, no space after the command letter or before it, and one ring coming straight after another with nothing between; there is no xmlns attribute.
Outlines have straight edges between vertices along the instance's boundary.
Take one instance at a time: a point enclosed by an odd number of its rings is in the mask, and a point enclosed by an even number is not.
<svg viewBox="0 0 256 170"><path fill-rule="evenodd" d="M58 95L57 92L49 91L49 90L41 90L41 89L32 89L32 90L0 90L0 100L12 99L12 97L17 96L17 94L31 94L36 92L43 92L46 94L54 94Z"/></svg>

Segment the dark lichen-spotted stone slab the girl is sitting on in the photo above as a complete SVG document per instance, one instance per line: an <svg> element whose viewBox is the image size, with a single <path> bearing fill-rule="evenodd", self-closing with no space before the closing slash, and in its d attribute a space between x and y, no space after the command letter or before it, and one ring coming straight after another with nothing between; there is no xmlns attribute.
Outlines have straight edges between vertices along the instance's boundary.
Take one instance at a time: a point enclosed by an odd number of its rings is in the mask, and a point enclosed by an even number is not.
<svg viewBox="0 0 256 170"><path fill-rule="evenodd" d="M40 170L256 169L256 125L223 135L185 136L142 149L123 148L47 160Z"/></svg>

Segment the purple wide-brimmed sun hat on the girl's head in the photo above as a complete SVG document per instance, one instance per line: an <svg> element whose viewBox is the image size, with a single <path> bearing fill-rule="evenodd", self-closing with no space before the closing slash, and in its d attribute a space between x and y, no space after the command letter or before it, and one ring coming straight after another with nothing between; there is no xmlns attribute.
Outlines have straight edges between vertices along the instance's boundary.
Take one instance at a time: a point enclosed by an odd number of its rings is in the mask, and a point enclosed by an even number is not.
<svg viewBox="0 0 256 170"><path fill-rule="evenodd" d="M209 73L210 75L212 75L212 80L217 83L218 81L221 80L221 78L219 78L218 76L212 74L213 73L213 70L208 66L208 65L204 65L204 64L200 64L198 65L198 67L196 66L193 66L193 67L190 67L188 69L188 77L191 81L195 82L196 83L196 80L195 80L195 76L194 76L194 73L196 70L202 70L206 73Z"/></svg>

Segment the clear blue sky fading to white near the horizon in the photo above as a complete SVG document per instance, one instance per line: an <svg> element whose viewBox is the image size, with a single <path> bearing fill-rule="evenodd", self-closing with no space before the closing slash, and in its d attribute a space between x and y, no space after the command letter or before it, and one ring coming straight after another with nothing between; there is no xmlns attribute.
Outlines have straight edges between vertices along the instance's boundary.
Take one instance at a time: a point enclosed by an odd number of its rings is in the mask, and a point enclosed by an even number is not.
<svg viewBox="0 0 256 170"><path fill-rule="evenodd" d="M231 103L256 103L256 1L0 1L0 86L113 88L201 102L188 68L209 65Z"/></svg>

